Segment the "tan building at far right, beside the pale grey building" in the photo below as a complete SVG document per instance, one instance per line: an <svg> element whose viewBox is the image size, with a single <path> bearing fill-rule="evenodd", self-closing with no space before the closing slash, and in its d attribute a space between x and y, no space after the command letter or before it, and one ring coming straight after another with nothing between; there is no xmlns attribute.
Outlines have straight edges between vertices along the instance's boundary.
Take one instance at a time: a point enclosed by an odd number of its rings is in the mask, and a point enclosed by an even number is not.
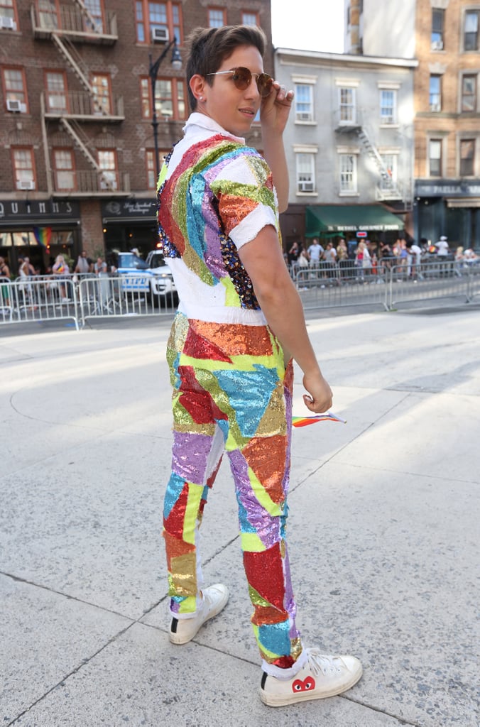
<svg viewBox="0 0 480 727"><path fill-rule="evenodd" d="M404 28L392 13L407 13ZM345 47L375 54L388 34L414 54L415 238L480 248L480 2L346 0ZM389 15L390 14L390 15ZM405 38L406 28L412 38Z"/></svg>

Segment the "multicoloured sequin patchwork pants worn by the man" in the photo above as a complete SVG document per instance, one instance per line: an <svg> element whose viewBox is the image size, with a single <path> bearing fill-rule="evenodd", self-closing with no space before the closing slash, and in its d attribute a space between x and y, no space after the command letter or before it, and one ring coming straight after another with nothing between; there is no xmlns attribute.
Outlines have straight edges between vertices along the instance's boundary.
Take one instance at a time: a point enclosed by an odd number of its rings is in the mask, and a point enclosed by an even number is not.
<svg viewBox="0 0 480 727"><path fill-rule="evenodd" d="M267 664L289 669L295 627L285 526L293 367L267 326L177 313L167 347L173 386L172 475L164 501L170 610L188 617L201 589L198 527L224 451L239 505L252 624Z"/></svg>

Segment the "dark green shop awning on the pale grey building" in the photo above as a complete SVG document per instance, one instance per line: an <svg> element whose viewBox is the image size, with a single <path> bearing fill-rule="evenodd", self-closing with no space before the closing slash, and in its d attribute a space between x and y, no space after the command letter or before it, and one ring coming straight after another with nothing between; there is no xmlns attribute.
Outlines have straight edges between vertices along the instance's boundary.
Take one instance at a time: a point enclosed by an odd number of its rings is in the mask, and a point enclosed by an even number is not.
<svg viewBox="0 0 480 727"><path fill-rule="evenodd" d="M316 204L305 207L305 236L403 230L404 222L380 204Z"/></svg>

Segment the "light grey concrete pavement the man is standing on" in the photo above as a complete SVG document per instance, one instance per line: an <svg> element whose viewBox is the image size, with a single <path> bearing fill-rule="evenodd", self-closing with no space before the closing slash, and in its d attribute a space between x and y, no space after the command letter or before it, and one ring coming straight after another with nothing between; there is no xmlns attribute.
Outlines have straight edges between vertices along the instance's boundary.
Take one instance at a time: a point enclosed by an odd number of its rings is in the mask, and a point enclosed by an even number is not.
<svg viewBox="0 0 480 727"><path fill-rule="evenodd" d="M167 636L167 321L0 337L0 719L25 727L477 727L480 311L311 318L346 425L293 433L290 557L305 643L344 696L280 710L260 669L223 465L204 574L231 600ZM7 335L6 335L7 334ZM295 414L303 414L300 376Z"/></svg>

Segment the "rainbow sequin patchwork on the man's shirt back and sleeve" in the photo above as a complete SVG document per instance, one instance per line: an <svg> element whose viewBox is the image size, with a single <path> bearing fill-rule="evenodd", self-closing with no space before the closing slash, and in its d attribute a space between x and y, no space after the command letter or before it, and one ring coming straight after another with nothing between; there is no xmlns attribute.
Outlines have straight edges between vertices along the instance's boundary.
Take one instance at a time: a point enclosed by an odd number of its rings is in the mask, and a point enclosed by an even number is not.
<svg viewBox="0 0 480 727"><path fill-rule="evenodd" d="M197 142L171 176L164 166L158 198L164 254L183 260L191 285L221 286L223 305L259 310L238 249L267 224L279 232L279 221L271 170L257 150L222 134Z"/></svg>

